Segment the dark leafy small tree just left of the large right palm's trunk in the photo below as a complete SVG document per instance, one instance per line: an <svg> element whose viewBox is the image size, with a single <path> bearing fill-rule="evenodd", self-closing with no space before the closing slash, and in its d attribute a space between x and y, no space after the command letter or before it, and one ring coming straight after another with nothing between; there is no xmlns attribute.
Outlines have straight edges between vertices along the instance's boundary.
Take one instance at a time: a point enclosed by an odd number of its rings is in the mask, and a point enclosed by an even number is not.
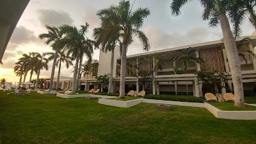
<svg viewBox="0 0 256 144"><path fill-rule="evenodd" d="M202 84L203 93L221 93L221 88L225 88L225 83L227 81L227 76L225 72L218 72L214 70L213 72L209 71L198 71L196 72L198 81L197 84Z"/></svg>

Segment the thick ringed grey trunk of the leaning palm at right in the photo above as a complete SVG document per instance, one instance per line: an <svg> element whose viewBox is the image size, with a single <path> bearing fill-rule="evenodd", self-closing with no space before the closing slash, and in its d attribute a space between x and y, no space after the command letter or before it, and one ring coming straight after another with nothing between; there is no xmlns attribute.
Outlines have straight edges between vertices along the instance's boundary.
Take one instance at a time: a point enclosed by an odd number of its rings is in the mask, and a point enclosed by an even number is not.
<svg viewBox="0 0 256 144"><path fill-rule="evenodd" d="M241 65L236 47L236 40L230 29L227 15L224 11L220 11L220 25L223 33L225 50L227 52L228 64L235 92L235 106L244 106L243 79L241 74Z"/></svg>

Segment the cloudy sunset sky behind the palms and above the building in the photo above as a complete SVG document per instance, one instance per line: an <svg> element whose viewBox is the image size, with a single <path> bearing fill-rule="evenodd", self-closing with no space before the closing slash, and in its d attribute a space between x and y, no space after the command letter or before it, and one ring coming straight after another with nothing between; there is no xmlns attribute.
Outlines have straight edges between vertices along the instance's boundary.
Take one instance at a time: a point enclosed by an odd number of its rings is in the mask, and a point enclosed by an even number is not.
<svg viewBox="0 0 256 144"><path fill-rule="evenodd" d="M6 47L3 65L0 65L0 79L5 78L12 83L19 81L13 68L22 54L52 51L51 47L45 44L45 40L38 38L41 33L47 33L45 24L50 26L68 24L78 28L88 22L90 26L86 36L92 38L93 29L100 26L96 13L118 2L118 0L31 0ZM181 15L178 17L171 14L172 0L132 0L132 3L134 3L132 10L140 7L150 10L150 15L144 20L143 27L140 29L149 39L150 51L222 38L220 26L210 28L208 21L202 20L203 9L198 1L192 1L183 6L180 9ZM254 31L247 19L243 22L242 30L242 35L251 35ZM127 55L143 52L140 41L135 37L133 41L128 47ZM93 59L99 60L99 50L94 51ZM86 61L86 58L83 60ZM52 61L49 62L49 70L42 70L40 78L50 77L51 69ZM72 77L72 71L73 67L68 69L62 67L61 76ZM54 77L57 77L57 73L58 68ZM36 79L36 74L33 74L33 79ZM29 81L29 74L26 81Z"/></svg>

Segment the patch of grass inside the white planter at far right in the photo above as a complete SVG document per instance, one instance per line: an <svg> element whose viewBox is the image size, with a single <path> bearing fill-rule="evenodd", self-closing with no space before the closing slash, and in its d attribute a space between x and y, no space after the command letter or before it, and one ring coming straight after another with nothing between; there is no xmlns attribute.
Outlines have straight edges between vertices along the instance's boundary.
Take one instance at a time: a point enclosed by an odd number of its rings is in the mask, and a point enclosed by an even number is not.
<svg viewBox="0 0 256 144"><path fill-rule="evenodd" d="M208 102L222 111L256 111L256 106L236 107L234 102Z"/></svg>

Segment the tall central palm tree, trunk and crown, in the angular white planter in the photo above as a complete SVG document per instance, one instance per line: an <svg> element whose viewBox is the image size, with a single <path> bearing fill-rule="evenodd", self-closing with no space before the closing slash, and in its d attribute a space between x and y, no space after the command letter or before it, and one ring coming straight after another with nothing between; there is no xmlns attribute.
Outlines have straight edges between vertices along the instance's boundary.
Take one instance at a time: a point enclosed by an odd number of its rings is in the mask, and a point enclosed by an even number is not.
<svg viewBox="0 0 256 144"><path fill-rule="evenodd" d="M143 25L143 20L150 14L148 8L138 8L132 12L130 2L121 0L117 6L100 10L97 15L101 20L102 26L116 26L120 38L122 38L121 51L121 72L120 72L120 95L125 97L125 70L126 70L126 52L128 46L132 43L132 35L140 38L143 44L143 50L150 48L147 36L139 29ZM107 27L108 28L108 27Z"/></svg>

